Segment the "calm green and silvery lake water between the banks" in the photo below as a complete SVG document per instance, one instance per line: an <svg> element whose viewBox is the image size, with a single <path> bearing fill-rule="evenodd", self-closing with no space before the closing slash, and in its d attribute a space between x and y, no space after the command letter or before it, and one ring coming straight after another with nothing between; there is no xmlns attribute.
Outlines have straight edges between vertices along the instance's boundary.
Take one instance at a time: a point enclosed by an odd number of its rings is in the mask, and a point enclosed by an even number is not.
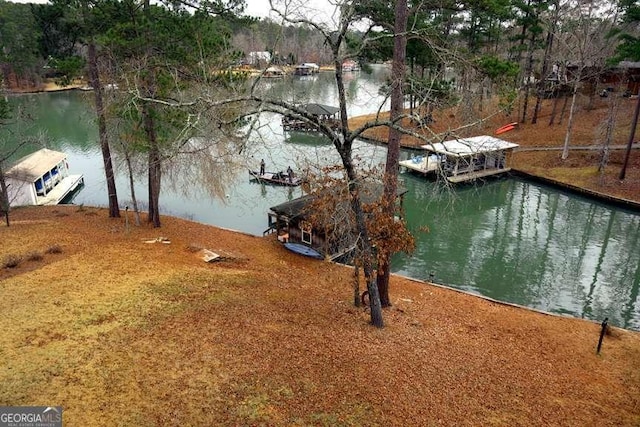
<svg viewBox="0 0 640 427"><path fill-rule="evenodd" d="M371 75L348 76L350 115L374 112L383 103L378 87L386 73L378 67ZM330 74L270 80L265 91L296 102L337 105ZM90 100L81 92L10 98L33 117L21 125L22 133L44 134L51 148L69 154L71 170L84 174L85 188L74 203L105 206ZM260 123L250 136L244 167L225 177L223 191L209 189L206 179L201 183L165 174L162 213L262 235L269 208L302 190L255 184L248 167L257 168L261 158L267 170L339 161L322 138L284 134L277 115L263 114ZM355 152L369 167L384 161L386 148L358 142ZM117 161L116 169L120 204L130 205L125 168ZM640 330L638 213L517 178L451 190L412 174L401 177L409 190L404 206L417 248L411 256L394 258L394 272L554 313L597 321L608 317L611 324ZM146 200L144 175L136 188L138 198Z"/></svg>

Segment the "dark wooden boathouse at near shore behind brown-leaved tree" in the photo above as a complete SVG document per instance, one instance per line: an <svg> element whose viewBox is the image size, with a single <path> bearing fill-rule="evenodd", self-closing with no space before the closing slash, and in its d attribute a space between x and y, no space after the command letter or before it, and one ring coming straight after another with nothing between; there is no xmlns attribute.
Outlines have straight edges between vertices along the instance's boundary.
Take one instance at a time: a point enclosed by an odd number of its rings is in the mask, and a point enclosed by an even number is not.
<svg viewBox="0 0 640 427"><path fill-rule="evenodd" d="M381 183L366 182L360 189L362 203L366 205L378 201L383 188ZM406 192L405 188L398 187L398 203L402 204ZM333 207L323 209L324 214L312 212L312 209L317 209L314 202L321 198L326 198L326 203ZM312 217L315 217L314 224L311 223ZM316 254L316 258L333 261L349 255L355 249L357 233L350 218L351 204L346 186L326 189L271 207L268 213L269 228L264 234L276 233L280 242L308 249L296 252Z"/></svg>

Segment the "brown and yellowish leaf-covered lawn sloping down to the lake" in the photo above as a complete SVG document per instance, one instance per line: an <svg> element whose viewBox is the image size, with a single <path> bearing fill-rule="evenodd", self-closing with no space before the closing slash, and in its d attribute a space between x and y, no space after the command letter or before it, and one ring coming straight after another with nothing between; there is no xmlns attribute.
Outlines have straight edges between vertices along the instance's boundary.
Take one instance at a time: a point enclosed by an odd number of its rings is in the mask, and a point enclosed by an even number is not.
<svg viewBox="0 0 640 427"><path fill-rule="evenodd" d="M640 425L635 332L598 356L598 324L400 277L378 330L352 270L270 238L76 206L12 219L0 405L62 405L66 426Z"/></svg>

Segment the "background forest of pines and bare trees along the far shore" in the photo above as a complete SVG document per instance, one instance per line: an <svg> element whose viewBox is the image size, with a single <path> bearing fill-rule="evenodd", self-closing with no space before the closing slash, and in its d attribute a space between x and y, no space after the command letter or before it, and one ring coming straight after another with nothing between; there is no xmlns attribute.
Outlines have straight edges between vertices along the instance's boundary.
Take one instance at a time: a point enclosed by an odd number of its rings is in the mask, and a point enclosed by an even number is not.
<svg viewBox="0 0 640 427"><path fill-rule="evenodd" d="M215 23L211 36L224 44L216 69L246 63L251 52L262 51L271 53L274 64L332 64L332 52L313 26L247 17L243 4L235 3L219 6L215 13L180 2L165 7L177 15L203 14ZM355 3L358 18L374 24L349 31L345 58L356 57L363 63L389 60L393 2L343 3ZM140 7L137 2L84 4L94 10L111 9L101 13L102 29L94 28L104 54L109 27L123 18L118 14ZM5 89L37 90L50 78L68 82L86 75L86 28L74 18L78 11L77 5L65 1L0 1L0 65ZM633 0L445 0L413 2L409 12L406 92L431 102L450 98L453 89L470 86L484 92L483 96L493 87L505 102L512 101L518 91L547 95L554 90L570 91L573 81L591 83L588 90L595 93L597 82L611 67L640 59L638 4ZM620 80L616 83L624 84Z"/></svg>

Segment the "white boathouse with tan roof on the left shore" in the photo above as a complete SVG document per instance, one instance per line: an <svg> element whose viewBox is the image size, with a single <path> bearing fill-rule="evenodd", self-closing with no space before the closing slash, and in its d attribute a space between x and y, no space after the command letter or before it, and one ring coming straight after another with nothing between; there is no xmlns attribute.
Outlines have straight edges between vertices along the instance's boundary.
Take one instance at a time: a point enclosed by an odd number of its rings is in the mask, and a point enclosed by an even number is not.
<svg viewBox="0 0 640 427"><path fill-rule="evenodd" d="M20 159L5 173L11 206L57 205L84 183L71 175L67 155L43 148Z"/></svg>

